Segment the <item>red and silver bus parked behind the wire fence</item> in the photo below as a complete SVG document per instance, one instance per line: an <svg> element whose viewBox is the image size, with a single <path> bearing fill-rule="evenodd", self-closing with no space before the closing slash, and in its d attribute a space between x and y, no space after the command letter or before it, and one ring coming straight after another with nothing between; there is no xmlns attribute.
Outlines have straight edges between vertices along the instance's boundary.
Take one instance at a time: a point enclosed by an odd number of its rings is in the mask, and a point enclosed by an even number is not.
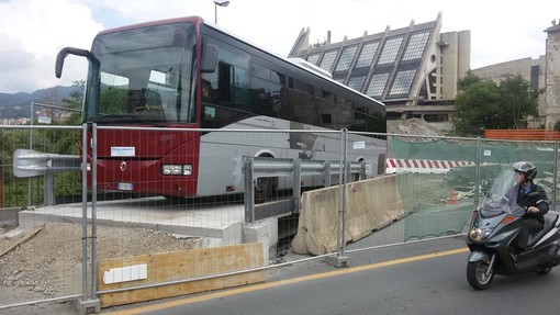
<svg viewBox="0 0 560 315"><path fill-rule="evenodd" d="M90 50L63 48L58 78L68 54L89 60L82 121L99 127L103 191L222 195L243 192L232 176L243 156L339 159L338 134L219 132L224 128L387 132L384 104L199 16L103 31ZM376 173L384 169L383 136L351 135L350 142L358 145L349 146L349 158L366 160ZM256 196L285 184L258 179Z"/></svg>

